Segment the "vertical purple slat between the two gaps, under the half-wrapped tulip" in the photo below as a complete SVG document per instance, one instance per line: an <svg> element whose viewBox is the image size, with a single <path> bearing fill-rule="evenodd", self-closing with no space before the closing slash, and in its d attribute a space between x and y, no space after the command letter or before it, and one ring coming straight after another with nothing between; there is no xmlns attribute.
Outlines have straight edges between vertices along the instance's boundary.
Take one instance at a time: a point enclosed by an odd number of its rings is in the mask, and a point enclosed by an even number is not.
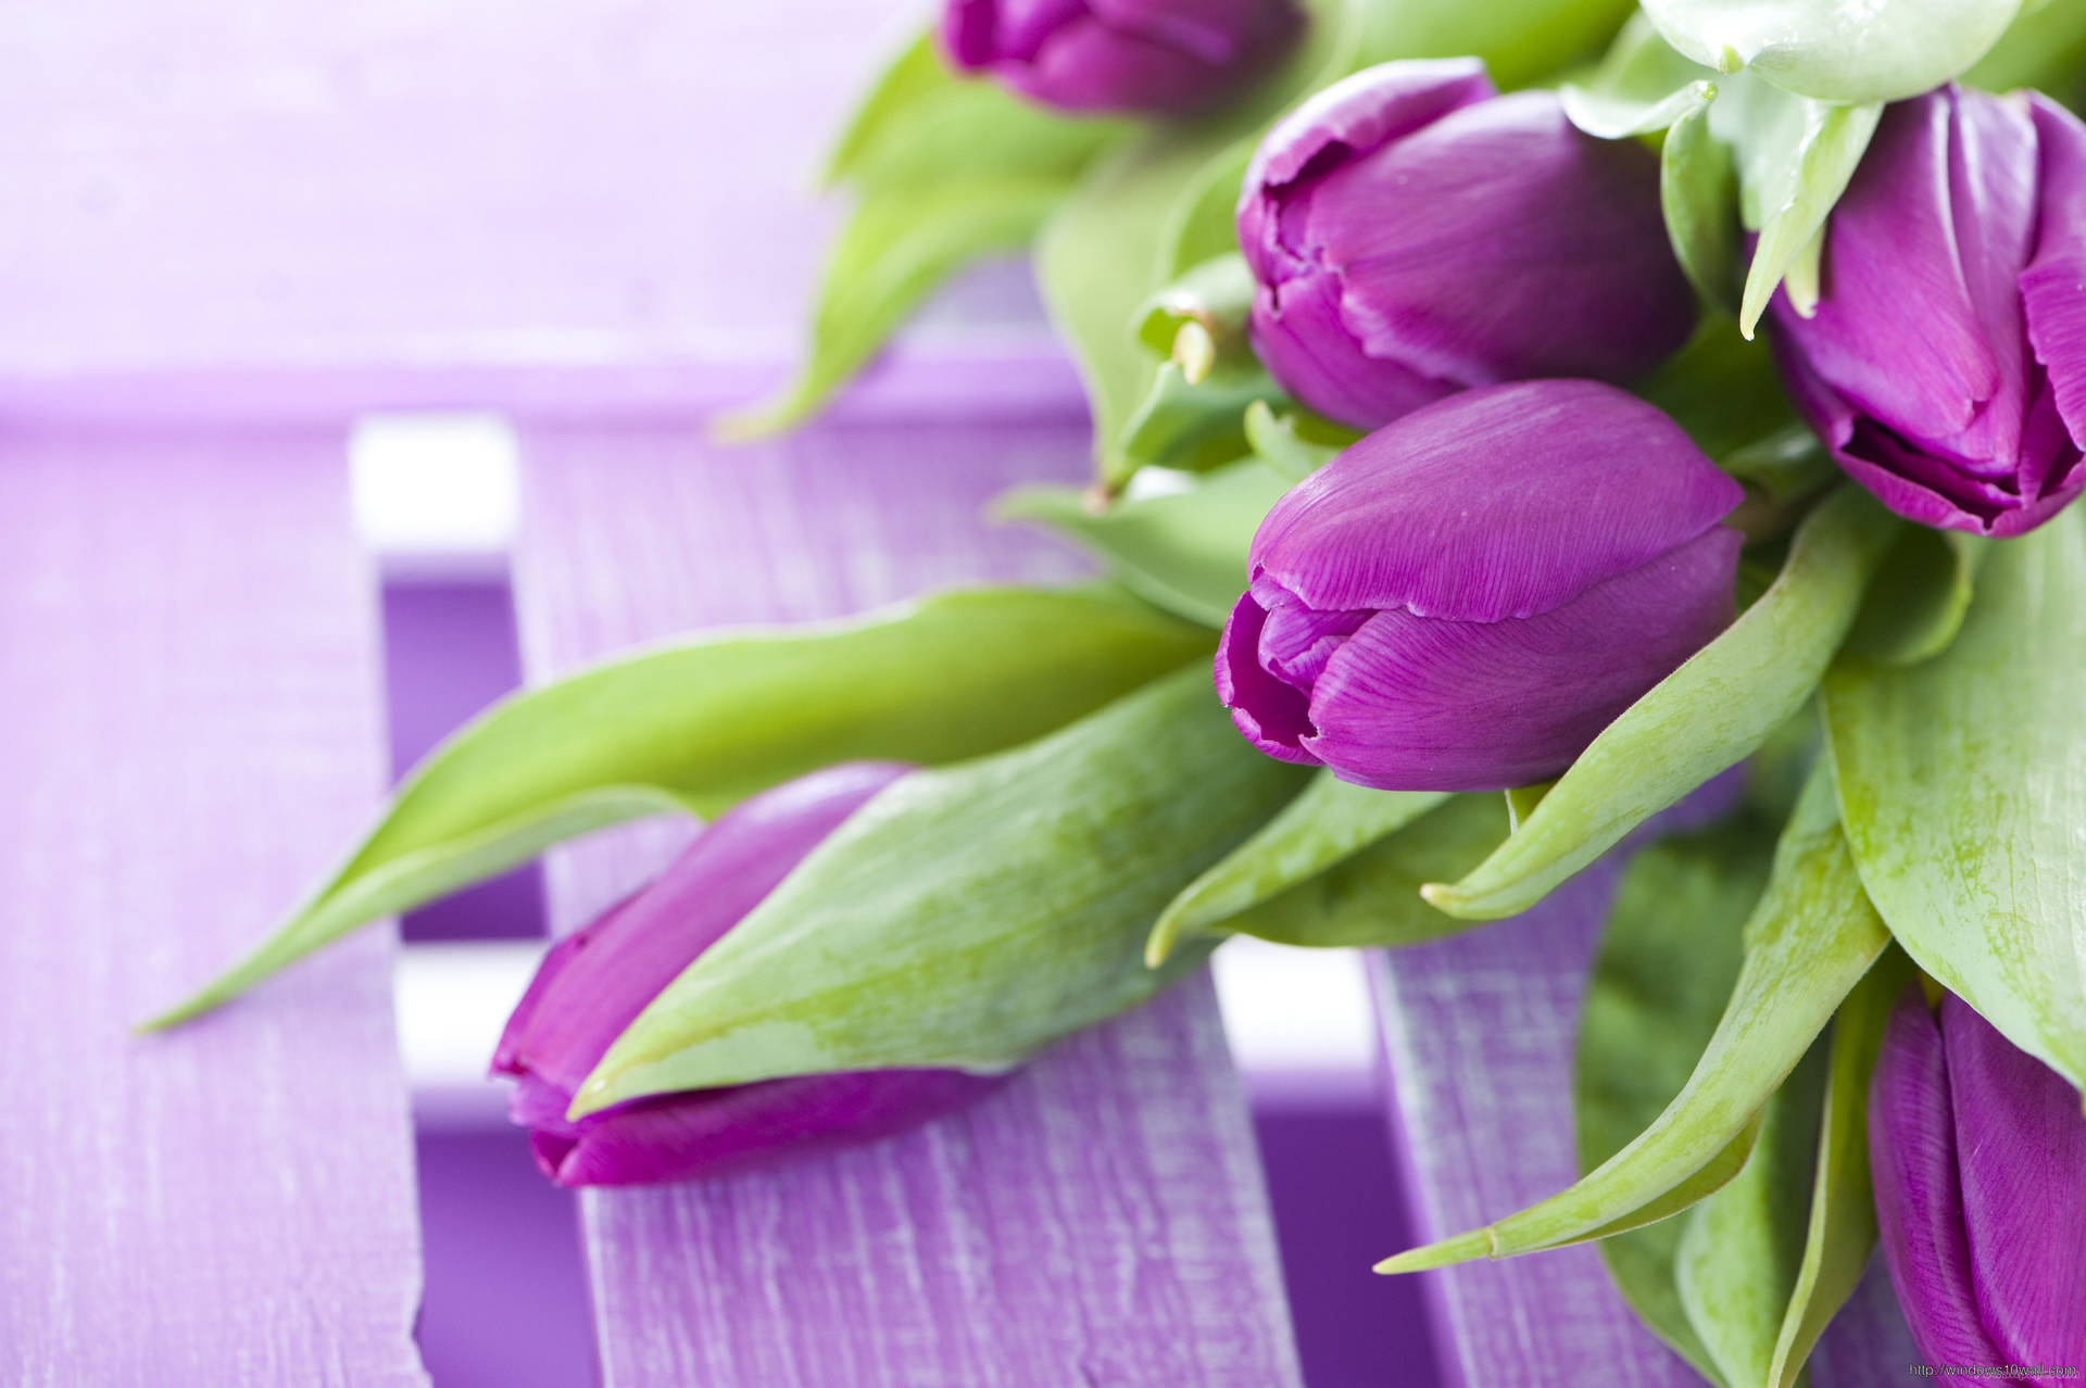
<svg viewBox="0 0 2086 1388"><path fill-rule="evenodd" d="M980 531L999 488L1078 477L1085 425L526 438L524 661L966 579L1068 577ZM572 927L684 827L553 854ZM1295 1350L1243 1096L1206 977L976 1109L824 1157L584 1196L609 1388L1281 1388Z"/></svg>

